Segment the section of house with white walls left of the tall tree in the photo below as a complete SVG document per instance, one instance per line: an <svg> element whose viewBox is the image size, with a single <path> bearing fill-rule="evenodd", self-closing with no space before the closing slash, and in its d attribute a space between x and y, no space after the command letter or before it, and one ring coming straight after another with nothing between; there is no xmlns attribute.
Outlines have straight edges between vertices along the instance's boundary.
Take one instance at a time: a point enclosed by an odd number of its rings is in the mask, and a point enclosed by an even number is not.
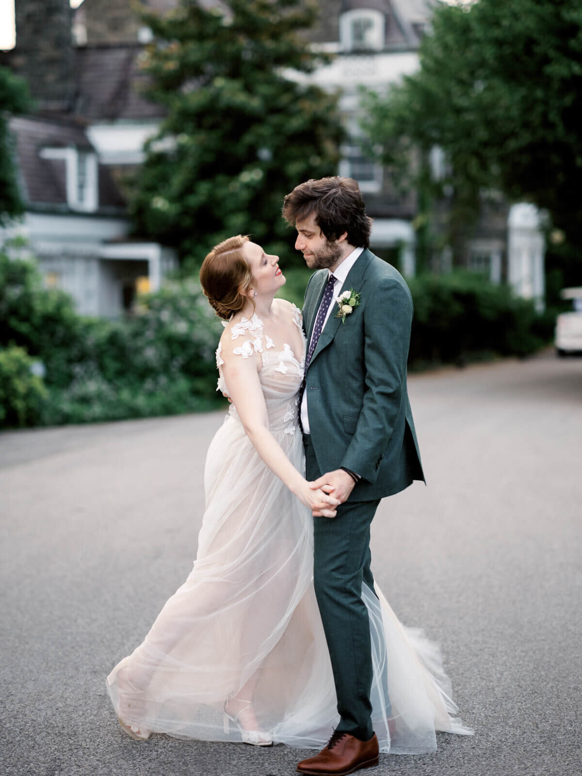
<svg viewBox="0 0 582 776"><path fill-rule="evenodd" d="M0 241L25 237L47 286L81 314L119 317L177 268L175 251L131 236L123 196L163 113L137 88L141 44L75 47L71 19L68 0L16 0L16 48L2 64L29 81L38 109L10 120L26 213Z"/></svg>

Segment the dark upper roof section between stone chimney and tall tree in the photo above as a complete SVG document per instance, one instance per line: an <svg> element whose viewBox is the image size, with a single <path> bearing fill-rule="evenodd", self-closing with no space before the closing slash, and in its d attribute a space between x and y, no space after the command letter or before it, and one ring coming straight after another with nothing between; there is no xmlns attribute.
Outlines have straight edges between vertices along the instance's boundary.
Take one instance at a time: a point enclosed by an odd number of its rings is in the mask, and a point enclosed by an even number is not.
<svg viewBox="0 0 582 776"><path fill-rule="evenodd" d="M140 44L120 43L75 50L78 116L88 121L156 120L165 116L165 109L141 92L147 83L138 64L143 49Z"/></svg>

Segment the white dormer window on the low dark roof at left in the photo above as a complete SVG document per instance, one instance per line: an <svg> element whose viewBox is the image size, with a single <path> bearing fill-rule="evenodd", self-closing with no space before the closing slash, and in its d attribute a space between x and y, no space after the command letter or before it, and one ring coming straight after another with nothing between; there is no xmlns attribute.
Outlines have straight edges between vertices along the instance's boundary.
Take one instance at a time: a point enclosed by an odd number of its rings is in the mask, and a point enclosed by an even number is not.
<svg viewBox="0 0 582 776"><path fill-rule="evenodd" d="M67 204L71 210L93 213L99 206L99 165L95 151L74 146L42 148L42 159L64 161Z"/></svg>

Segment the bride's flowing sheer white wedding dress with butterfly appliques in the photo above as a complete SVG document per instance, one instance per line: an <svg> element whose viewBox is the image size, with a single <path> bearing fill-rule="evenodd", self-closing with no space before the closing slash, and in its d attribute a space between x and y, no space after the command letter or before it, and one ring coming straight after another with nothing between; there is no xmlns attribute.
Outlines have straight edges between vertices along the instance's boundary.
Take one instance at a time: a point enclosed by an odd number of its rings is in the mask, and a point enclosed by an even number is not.
<svg viewBox="0 0 582 776"><path fill-rule="evenodd" d="M296 308L294 321L301 327ZM269 338L256 315L230 333L240 343L238 356L261 354L272 435L304 471L297 406L302 354ZM219 370L221 363L219 346ZM226 391L221 374L219 387ZM262 734L275 743L324 747L339 716L312 583L310 510L258 456L234 405L210 444L204 484L192 572L144 642L107 678L116 713L144 737L240 742L238 727L224 724L223 708L246 698ZM438 649L422 632L404 628L376 593L362 591L380 751L423 753L436 749L437 730L471 733L455 719Z"/></svg>

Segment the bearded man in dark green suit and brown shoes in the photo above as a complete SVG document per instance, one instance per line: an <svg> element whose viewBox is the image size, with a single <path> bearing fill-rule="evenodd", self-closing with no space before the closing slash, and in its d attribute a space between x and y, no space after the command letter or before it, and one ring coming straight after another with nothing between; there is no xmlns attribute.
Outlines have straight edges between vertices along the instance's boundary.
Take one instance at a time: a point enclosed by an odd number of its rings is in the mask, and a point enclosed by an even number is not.
<svg viewBox="0 0 582 776"><path fill-rule="evenodd" d="M311 276L303 321L300 421L313 487L329 485L335 518L314 512L314 585L331 656L340 722L303 774L349 774L378 763L372 653L362 583L374 590L370 523L383 496L424 480L407 394L412 298L369 251L372 220L352 178L296 186L282 214Z"/></svg>

